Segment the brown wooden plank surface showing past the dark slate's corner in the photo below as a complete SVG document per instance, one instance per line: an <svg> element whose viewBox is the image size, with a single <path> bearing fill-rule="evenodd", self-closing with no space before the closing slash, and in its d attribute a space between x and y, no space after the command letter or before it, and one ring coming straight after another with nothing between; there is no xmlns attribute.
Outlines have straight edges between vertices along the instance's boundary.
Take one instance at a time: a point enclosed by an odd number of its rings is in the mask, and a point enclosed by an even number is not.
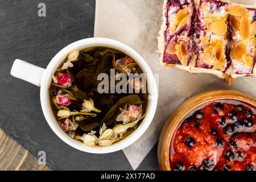
<svg viewBox="0 0 256 182"><path fill-rule="evenodd" d="M38 159L34 155L0 129L0 170L49 171L51 168L44 164L38 164Z"/></svg>

